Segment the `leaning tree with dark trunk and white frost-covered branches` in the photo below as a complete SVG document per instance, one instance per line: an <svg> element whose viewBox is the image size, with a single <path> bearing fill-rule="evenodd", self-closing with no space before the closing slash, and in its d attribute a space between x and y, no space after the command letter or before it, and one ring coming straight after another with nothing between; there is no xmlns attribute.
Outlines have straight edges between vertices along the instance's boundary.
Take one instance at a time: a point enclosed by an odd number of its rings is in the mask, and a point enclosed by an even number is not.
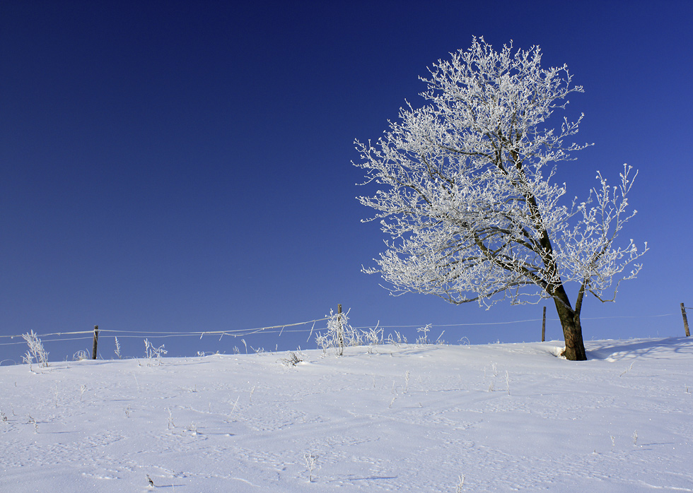
<svg viewBox="0 0 693 493"><path fill-rule="evenodd" d="M632 240L615 244L636 213L627 211L627 194L637 173L624 165L612 186L598 172L586 201L562 203L566 185L554 183L555 163L587 144L567 142L582 116L564 117L559 129L547 119L583 88L571 85L566 66L542 69L539 47L515 52L511 43L495 52L474 38L451 55L421 78L428 104L407 103L377 143L355 142L361 161L354 165L366 170L366 183L378 184L359 200L392 237L378 267L364 271L380 273L395 295L433 294L455 304L552 298L565 356L586 360L585 294L615 299L647 250ZM577 287L574 304L566 283Z"/></svg>

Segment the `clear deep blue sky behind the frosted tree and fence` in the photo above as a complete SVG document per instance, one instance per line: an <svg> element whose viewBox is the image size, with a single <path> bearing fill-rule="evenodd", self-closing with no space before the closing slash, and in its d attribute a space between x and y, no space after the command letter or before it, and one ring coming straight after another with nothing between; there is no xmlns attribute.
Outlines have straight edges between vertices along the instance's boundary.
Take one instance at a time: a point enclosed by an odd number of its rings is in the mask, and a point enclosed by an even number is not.
<svg viewBox="0 0 693 493"><path fill-rule="evenodd" d="M473 35L539 44L544 66L568 64L585 87L570 110L595 146L561 165L569 196L586 197L596 170L612 182L624 162L640 170L623 237L651 251L615 304L588 299L585 337L682 335L680 315L653 316L693 306L692 24L690 1L3 1L0 335L253 328L337 303L356 326L540 318L542 305L390 297L361 273L384 236L360 222L354 138L419 104L417 77ZM590 320L607 316L619 318ZM445 330L540 337L537 322ZM558 322L547 332L559 338ZM314 348L305 337L247 342ZM144 352L141 339L124 352ZM47 345L58 360L88 347ZM23 350L0 346L0 360Z"/></svg>

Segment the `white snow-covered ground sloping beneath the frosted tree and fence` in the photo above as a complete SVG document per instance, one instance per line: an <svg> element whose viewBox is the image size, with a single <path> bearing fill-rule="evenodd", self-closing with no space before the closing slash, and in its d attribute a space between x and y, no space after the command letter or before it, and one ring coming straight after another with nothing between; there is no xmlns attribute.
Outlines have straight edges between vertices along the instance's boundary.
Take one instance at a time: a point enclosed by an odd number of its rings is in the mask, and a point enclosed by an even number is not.
<svg viewBox="0 0 693 493"><path fill-rule="evenodd" d="M693 339L559 346L0 367L0 491L693 492Z"/></svg>

